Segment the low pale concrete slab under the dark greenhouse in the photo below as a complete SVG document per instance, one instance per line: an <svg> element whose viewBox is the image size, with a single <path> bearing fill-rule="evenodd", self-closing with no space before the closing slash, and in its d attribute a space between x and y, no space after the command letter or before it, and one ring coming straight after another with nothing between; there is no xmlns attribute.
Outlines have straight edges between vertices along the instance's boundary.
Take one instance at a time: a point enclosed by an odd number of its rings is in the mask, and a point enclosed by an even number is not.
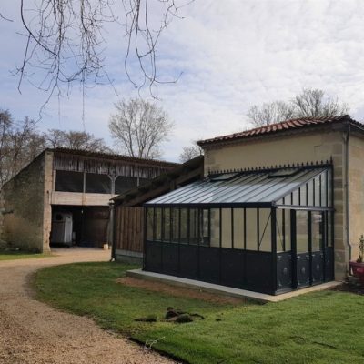
<svg viewBox="0 0 364 364"><path fill-rule="evenodd" d="M247 298L258 302L278 302L284 299L293 298L299 295L303 295L308 292L315 292L318 290L324 290L328 288L333 288L338 286L340 282L327 282L322 283L318 286L312 286L308 288L302 288L294 290L288 293L282 293L278 296L271 296L265 293L253 292L246 289L231 288L226 286L220 286L213 283L201 282L199 280L180 278L174 276L167 276L166 274L159 274L153 272L146 272L141 269L128 270L126 272L127 277L140 278L146 280L153 280L161 283L167 283L174 286L179 286L183 288L199 289L206 292L216 293L218 295L236 297L236 298Z"/></svg>

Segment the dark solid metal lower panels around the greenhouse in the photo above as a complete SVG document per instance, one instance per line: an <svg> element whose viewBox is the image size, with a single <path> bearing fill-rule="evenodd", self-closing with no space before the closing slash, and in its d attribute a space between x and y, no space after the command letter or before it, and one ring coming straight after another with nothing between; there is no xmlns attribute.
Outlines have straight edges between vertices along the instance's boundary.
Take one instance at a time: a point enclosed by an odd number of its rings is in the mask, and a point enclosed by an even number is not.
<svg viewBox="0 0 364 364"><path fill-rule="evenodd" d="M290 252L278 253L273 277L269 252L147 241L144 270L276 295L332 280L332 248L326 248L324 257L300 254L293 272Z"/></svg>

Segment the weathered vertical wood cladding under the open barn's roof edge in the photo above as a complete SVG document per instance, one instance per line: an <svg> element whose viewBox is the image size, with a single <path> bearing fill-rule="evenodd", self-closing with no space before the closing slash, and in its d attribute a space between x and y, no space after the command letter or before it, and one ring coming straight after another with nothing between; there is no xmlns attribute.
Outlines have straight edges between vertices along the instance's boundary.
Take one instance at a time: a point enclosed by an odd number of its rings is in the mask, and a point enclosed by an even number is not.
<svg viewBox="0 0 364 364"><path fill-rule="evenodd" d="M126 176L154 178L161 175L170 167L147 166L135 162L106 160L92 157L70 155L55 155L56 170L106 174L109 176Z"/></svg>

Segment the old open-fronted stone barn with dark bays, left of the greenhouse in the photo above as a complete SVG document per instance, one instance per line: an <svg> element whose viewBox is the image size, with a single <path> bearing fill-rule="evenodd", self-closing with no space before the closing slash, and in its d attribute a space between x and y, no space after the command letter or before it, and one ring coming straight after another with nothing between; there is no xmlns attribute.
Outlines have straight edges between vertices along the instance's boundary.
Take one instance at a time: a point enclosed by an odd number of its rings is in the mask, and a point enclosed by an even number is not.
<svg viewBox="0 0 364 364"><path fill-rule="evenodd" d="M51 240L102 247L110 198L175 167L152 159L46 149L2 188L0 238L38 252L48 251Z"/></svg>

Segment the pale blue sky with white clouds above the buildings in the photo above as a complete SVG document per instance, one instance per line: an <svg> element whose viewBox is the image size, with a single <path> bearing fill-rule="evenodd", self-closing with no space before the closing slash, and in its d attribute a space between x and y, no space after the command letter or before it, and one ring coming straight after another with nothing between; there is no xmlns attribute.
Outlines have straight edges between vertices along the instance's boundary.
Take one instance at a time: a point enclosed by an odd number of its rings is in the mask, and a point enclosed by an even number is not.
<svg viewBox="0 0 364 364"><path fill-rule="evenodd" d="M15 119L37 119L46 94L27 79L19 93L19 77L12 72L25 50L19 4L2 0L0 5L0 13L13 20L0 18L0 108ZM149 4L158 21L157 0ZM194 140L247 128L250 106L288 100L304 87L337 96L353 118L364 120L362 0L195 0L178 14L159 39L157 73L169 80L181 76L157 86L157 99L147 89L140 92L174 123L161 146L163 159L177 161L182 147ZM107 125L114 104L139 93L125 74L124 30L108 25L105 39L106 71L114 87L87 89L84 102L77 85L60 100L53 97L40 130L86 130L113 144ZM137 76L136 63L130 67ZM39 77L34 72L32 82Z"/></svg>

